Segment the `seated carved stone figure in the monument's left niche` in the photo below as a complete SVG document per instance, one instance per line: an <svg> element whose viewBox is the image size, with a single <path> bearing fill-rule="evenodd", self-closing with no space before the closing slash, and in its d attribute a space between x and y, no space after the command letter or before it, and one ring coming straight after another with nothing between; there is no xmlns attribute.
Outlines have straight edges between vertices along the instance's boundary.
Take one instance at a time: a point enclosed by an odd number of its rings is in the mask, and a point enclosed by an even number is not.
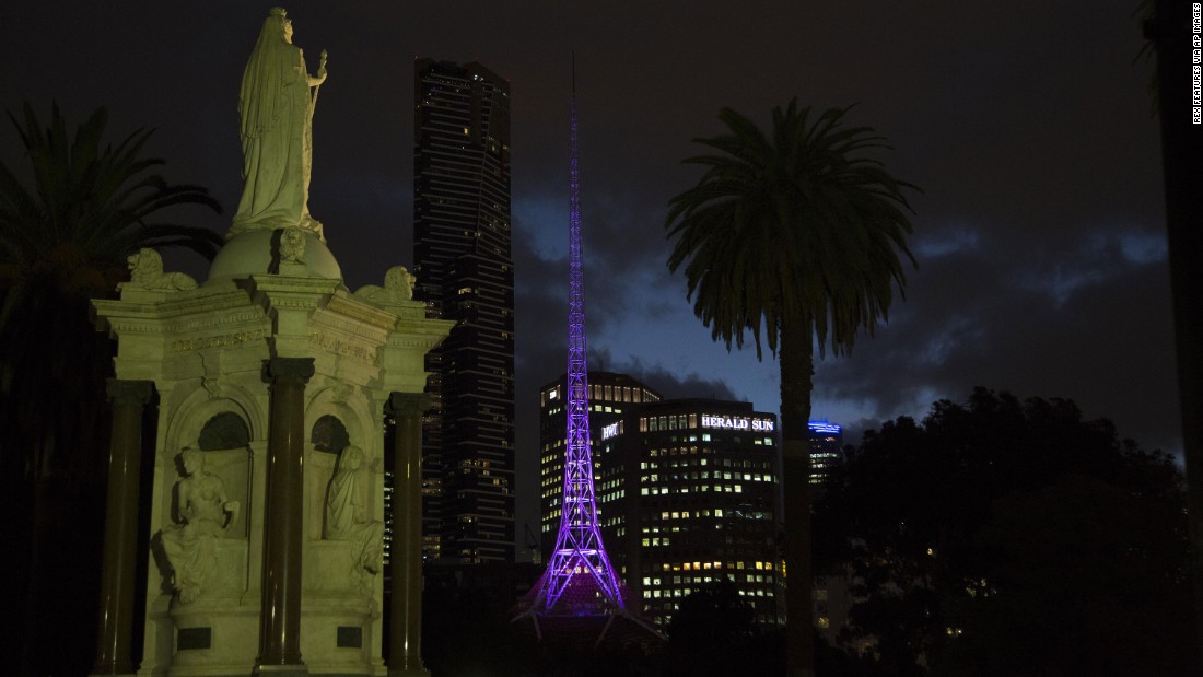
<svg viewBox="0 0 1203 677"><path fill-rule="evenodd" d="M205 452L180 453L184 477L176 483L179 522L164 528L164 554L179 601L191 604L205 592L217 568L217 539L238 517L238 501L226 495L221 477L205 470Z"/></svg>

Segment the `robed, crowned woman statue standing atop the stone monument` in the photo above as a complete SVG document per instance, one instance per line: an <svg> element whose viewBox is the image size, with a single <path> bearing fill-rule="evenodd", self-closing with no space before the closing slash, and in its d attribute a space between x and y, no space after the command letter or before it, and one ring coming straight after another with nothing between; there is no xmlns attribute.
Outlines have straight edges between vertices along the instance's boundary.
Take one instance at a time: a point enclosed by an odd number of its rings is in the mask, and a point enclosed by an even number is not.
<svg viewBox="0 0 1203 677"><path fill-rule="evenodd" d="M309 215L313 166L313 109L326 81L326 53L318 76L306 71L301 48L292 44L292 20L273 7L247 61L238 93L242 118L242 176L245 184L233 226L226 237L298 227L325 242L321 224Z"/></svg>

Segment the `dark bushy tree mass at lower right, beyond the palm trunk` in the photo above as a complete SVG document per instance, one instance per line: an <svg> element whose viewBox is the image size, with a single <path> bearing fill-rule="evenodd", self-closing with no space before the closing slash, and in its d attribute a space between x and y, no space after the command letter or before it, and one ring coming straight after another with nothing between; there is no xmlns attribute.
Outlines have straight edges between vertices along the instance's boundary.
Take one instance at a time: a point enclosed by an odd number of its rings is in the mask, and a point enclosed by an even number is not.
<svg viewBox="0 0 1203 677"><path fill-rule="evenodd" d="M1198 673L1181 482L1072 400L977 388L851 450L817 566L882 673Z"/></svg>

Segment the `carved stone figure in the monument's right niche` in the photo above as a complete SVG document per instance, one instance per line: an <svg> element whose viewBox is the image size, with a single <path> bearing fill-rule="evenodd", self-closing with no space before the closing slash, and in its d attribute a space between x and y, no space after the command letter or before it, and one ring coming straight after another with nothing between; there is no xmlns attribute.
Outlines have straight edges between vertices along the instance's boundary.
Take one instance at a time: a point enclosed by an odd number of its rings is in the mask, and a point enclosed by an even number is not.
<svg viewBox="0 0 1203 677"><path fill-rule="evenodd" d="M368 477L363 451L348 446L338 457L338 469L326 494L326 538L354 541L354 569L375 574L384 557L384 522L368 511Z"/></svg>

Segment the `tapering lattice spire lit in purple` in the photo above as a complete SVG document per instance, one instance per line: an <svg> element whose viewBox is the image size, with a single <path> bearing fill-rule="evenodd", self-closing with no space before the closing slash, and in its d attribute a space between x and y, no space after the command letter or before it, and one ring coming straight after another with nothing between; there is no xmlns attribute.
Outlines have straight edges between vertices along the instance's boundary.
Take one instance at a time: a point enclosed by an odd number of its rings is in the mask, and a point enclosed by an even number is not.
<svg viewBox="0 0 1203 677"><path fill-rule="evenodd" d="M602 545L589 450L588 368L585 364L585 274L581 266L581 195L576 167L576 75L573 73L571 165L568 208L568 426L564 495L556 547L532 611L594 616L626 608L622 586Z"/></svg>

